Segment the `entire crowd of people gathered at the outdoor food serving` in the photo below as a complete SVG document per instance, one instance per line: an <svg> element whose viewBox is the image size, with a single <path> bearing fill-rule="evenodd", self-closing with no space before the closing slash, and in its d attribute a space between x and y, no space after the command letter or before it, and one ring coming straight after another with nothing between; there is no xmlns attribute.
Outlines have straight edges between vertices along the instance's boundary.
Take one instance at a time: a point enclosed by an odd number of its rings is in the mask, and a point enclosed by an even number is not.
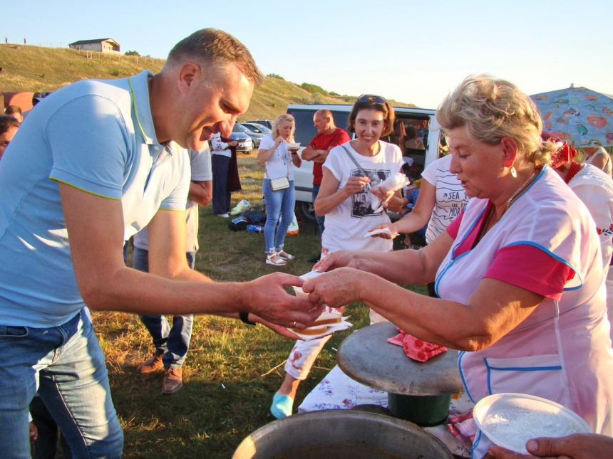
<svg viewBox="0 0 613 459"><path fill-rule="evenodd" d="M542 132L535 105L515 85L469 77L436 115L450 154L423 171L413 211L391 223L371 203L395 212L406 206L400 190L380 184L403 170L403 154L428 142L427 122L401 128L384 97L362 95L347 126L354 139L320 110L318 134L301 156L293 117L279 115L257 154L265 168L264 261L279 267L294 259L284 250L294 218L292 164L313 161L321 229L314 269L324 274L215 283L194 269L197 209L212 199L215 214L229 211L230 132L261 80L242 43L203 29L177 43L156 75L68 85L22 125L19 107L0 116L5 457L30 455L33 400L43 402L73 457L122 455L89 309L140 315L155 351L138 371L165 369L163 392L173 394L182 386L193 315L261 323L297 339L289 328L304 329L324 310L357 300L370 307L371 323L388 320L460 350L473 402L500 392L542 396L594 432L530 440L533 457L613 457L606 150L586 151L586 164L577 163L575 149ZM390 233L426 225L425 247L393 251ZM373 228L389 232L365 238ZM129 238L133 268L123 258ZM430 294L401 287L407 284L431 285ZM289 285L308 297L289 295ZM275 417L292 414L297 386L325 342L297 341L274 394ZM474 458L510 454L475 437Z"/></svg>

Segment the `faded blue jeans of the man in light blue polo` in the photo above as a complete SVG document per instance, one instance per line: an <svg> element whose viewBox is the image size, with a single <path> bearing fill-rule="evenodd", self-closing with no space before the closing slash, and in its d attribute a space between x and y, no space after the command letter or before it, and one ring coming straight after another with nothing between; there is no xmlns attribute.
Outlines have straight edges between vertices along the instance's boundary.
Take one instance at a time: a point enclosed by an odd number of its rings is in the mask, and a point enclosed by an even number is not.
<svg viewBox="0 0 613 459"><path fill-rule="evenodd" d="M29 404L36 394L75 458L120 458L104 354L82 312L60 327L0 325L0 445L3 458L30 458ZM37 387L38 386L38 387Z"/></svg>

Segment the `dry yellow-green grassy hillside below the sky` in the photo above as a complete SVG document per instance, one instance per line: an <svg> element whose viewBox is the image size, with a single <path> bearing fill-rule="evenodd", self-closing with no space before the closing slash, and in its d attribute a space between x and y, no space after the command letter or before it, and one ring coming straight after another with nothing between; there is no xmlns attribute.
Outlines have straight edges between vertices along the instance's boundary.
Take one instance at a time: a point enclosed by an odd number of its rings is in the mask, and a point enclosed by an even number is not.
<svg viewBox="0 0 613 459"><path fill-rule="evenodd" d="M0 90L2 92L53 91L78 80L87 78L124 78L143 69L153 73L160 71L163 59L140 56L108 55L85 52L79 53L68 48L44 48L40 46L0 45ZM239 120L274 118L284 112L290 103L352 103L355 96L325 95L316 85L305 85L309 90L284 80L279 76L268 76L262 85L254 90L249 110ZM324 93L317 92L323 91ZM390 101L400 107L414 105Z"/></svg>

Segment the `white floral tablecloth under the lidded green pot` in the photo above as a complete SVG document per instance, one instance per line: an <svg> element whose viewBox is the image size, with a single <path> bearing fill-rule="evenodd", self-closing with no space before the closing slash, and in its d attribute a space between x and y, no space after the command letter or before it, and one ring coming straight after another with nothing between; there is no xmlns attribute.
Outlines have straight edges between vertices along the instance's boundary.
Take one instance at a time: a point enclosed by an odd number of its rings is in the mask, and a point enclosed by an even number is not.
<svg viewBox="0 0 613 459"><path fill-rule="evenodd" d="M373 404L387 408L387 392L378 391L354 381L339 368L334 366L324 379L313 389L298 407L299 413L318 410L351 409L356 405ZM450 416L466 413L473 408L473 403L464 393L454 394L449 406ZM445 423L441 426L426 427L441 440L451 453L463 458L470 458L470 446L465 445L447 430Z"/></svg>

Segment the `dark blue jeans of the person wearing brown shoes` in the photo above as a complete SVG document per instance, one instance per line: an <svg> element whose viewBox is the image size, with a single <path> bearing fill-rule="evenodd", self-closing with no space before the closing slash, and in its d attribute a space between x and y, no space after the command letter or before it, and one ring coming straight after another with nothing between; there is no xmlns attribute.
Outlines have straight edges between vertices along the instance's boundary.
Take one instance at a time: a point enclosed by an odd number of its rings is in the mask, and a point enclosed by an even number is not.
<svg viewBox="0 0 613 459"><path fill-rule="evenodd" d="M194 269L196 253L187 252L185 256L187 257L187 263L190 264L190 268ZM134 247L132 266L135 269L148 273L149 251ZM185 362L187 349L190 348L194 316L172 316L172 328L163 315L141 315L140 320L153 338L155 352L164 354L164 357L162 357L164 368L180 368L183 362Z"/></svg>

